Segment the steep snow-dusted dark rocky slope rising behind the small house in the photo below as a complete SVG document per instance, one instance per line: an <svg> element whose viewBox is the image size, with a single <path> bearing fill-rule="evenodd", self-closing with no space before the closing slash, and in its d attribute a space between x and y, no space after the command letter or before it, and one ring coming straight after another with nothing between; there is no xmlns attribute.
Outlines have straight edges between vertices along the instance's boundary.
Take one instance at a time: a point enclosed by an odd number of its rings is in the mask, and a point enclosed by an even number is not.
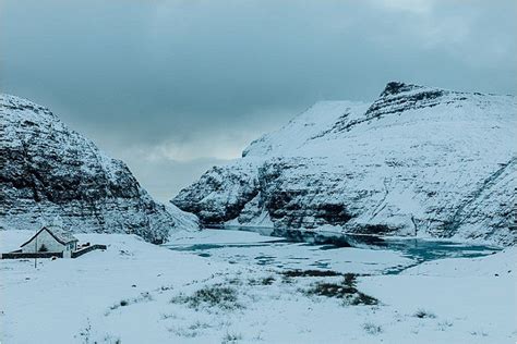
<svg viewBox="0 0 517 344"><path fill-rule="evenodd" d="M48 109L0 95L0 229L36 230L60 218L73 232L167 241L196 219L157 204L128 167Z"/></svg>

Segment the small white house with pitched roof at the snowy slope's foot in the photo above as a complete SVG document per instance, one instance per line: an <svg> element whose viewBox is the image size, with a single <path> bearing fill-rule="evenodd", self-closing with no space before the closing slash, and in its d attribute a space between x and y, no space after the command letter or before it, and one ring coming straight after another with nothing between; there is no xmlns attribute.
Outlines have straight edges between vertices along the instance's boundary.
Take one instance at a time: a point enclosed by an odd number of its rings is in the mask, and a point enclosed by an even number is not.
<svg viewBox="0 0 517 344"><path fill-rule="evenodd" d="M25 244L22 253L63 253L77 249L77 238L60 226L48 225L40 229Z"/></svg>

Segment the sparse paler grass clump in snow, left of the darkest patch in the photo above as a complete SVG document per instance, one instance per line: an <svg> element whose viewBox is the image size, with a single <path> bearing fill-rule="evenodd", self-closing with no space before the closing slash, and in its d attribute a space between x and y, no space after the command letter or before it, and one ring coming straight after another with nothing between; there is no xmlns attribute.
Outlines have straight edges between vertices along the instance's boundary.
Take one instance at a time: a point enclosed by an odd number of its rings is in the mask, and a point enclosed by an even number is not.
<svg viewBox="0 0 517 344"><path fill-rule="evenodd" d="M205 286L190 296L180 294L170 302L172 304L185 304L194 309L201 307L218 307L226 310L243 308L238 302L238 293L235 288L218 284Z"/></svg>

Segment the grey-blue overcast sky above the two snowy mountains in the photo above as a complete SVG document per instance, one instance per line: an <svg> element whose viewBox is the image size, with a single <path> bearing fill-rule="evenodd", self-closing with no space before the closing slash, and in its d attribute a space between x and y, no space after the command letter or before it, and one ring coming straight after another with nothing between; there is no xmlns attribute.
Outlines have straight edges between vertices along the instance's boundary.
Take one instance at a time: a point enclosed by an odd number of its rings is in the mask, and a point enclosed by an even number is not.
<svg viewBox="0 0 517 344"><path fill-rule="evenodd" d="M0 87L158 199L317 100L516 94L517 1L0 0Z"/></svg>

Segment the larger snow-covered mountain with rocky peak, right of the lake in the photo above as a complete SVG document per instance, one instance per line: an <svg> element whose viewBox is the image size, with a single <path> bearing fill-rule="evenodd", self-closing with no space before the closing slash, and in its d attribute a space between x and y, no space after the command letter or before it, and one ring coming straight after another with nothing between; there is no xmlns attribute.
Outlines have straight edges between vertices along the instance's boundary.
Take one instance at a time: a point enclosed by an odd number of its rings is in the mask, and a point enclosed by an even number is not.
<svg viewBox="0 0 517 344"><path fill-rule="evenodd" d="M204 223L513 245L514 96L389 83L373 103L318 102L171 202Z"/></svg>

